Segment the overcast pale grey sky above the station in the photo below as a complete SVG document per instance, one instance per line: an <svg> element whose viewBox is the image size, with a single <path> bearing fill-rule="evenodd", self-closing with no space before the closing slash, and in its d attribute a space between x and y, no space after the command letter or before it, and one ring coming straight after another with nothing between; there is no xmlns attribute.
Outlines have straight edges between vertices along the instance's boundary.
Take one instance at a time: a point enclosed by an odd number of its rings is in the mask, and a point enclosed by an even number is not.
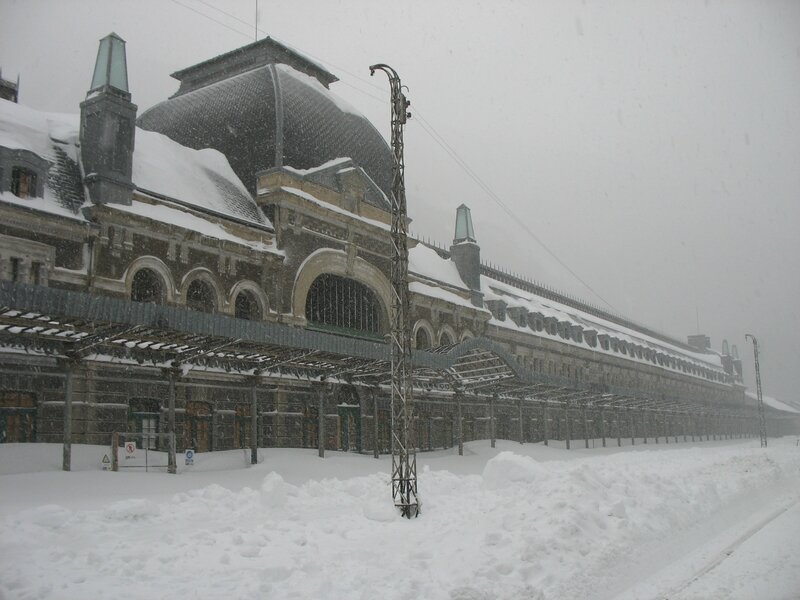
<svg viewBox="0 0 800 600"><path fill-rule="evenodd" d="M0 0L0 67L20 74L23 104L77 112L97 41L115 31L141 113L177 89L170 73L252 41L255 5ZM748 381L752 332L765 392L798 400L800 2L259 8L259 36L324 64L384 135L388 84L368 66L397 69L415 113L415 232L449 245L465 202L484 259L681 339L699 315L715 348L738 345Z"/></svg>

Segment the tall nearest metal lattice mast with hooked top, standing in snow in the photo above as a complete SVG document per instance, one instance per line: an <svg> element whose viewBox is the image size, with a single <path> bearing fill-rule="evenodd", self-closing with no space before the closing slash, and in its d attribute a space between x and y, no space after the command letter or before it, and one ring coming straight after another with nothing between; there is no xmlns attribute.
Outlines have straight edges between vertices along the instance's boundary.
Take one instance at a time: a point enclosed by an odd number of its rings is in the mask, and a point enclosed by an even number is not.
<svg viewBox="0 0 800 600"><path fill-rule="evenodd" d="M414 398L411 385L411 324L408 293L408 219L406 209L403 125L411 113L400 77L389 65L369 68L370 75L383 71L392 91L392 496L404 517L419 514L417 455L411 431Z"/></svg>

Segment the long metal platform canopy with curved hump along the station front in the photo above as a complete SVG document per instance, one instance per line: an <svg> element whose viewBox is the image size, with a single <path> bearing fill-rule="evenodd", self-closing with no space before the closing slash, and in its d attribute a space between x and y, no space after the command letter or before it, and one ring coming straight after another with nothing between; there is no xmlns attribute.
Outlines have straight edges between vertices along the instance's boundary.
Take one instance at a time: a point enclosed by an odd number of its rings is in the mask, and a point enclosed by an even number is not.
<svg viewBox="0 0 800 600"><path fill-rule="evenodd" d="M383 386L391 380L385 342L11 282L0 282L0 348L62 361L191 367L309 382ZM485 338L416 350L412 359L417 393L736 414L744 408L538 373Z"/></svg>

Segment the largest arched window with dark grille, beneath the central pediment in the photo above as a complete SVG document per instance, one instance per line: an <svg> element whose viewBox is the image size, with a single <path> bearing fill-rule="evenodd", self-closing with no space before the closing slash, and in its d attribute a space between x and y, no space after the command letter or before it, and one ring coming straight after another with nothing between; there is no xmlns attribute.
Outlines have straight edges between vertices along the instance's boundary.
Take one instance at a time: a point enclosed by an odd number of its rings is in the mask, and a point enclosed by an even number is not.
<svg viewBox="0 0 800 600"><path fill-rule="evenodd" d="M384 322L378 297L363 283L320 275L306 297L306 319L314 325L382 334Z"/></svg>

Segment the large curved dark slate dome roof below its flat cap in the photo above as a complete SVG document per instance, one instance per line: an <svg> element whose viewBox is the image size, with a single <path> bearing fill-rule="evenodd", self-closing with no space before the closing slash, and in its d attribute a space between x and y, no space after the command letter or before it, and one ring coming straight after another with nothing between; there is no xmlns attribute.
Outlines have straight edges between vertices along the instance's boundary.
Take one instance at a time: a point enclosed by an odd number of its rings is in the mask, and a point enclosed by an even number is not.
<svg viewBox="0 0 800 600"><path fill-rule="evenodd" d="M389 194L392 153L362 115L317 79L275 63L193 86L144 112L138 124L190 148L215 148L255 194L256 173L349 157ZM199 87L198 87L199 85Z"/></svg>

